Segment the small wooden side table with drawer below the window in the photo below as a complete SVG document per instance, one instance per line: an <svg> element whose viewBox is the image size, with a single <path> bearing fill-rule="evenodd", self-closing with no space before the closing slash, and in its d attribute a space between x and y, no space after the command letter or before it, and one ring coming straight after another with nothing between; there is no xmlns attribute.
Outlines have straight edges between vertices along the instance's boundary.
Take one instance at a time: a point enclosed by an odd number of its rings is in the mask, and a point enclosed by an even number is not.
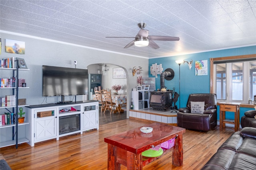
<svg viewBox="0 0 256 170"><path fill-rule="evenodd" d="M220 130L225 127L226 123L235 125L235 131L239 131L240 122L240 104L235 102L220 102ZM226 111L231 111L235 113L235 119L226 119Z"/></svg>

